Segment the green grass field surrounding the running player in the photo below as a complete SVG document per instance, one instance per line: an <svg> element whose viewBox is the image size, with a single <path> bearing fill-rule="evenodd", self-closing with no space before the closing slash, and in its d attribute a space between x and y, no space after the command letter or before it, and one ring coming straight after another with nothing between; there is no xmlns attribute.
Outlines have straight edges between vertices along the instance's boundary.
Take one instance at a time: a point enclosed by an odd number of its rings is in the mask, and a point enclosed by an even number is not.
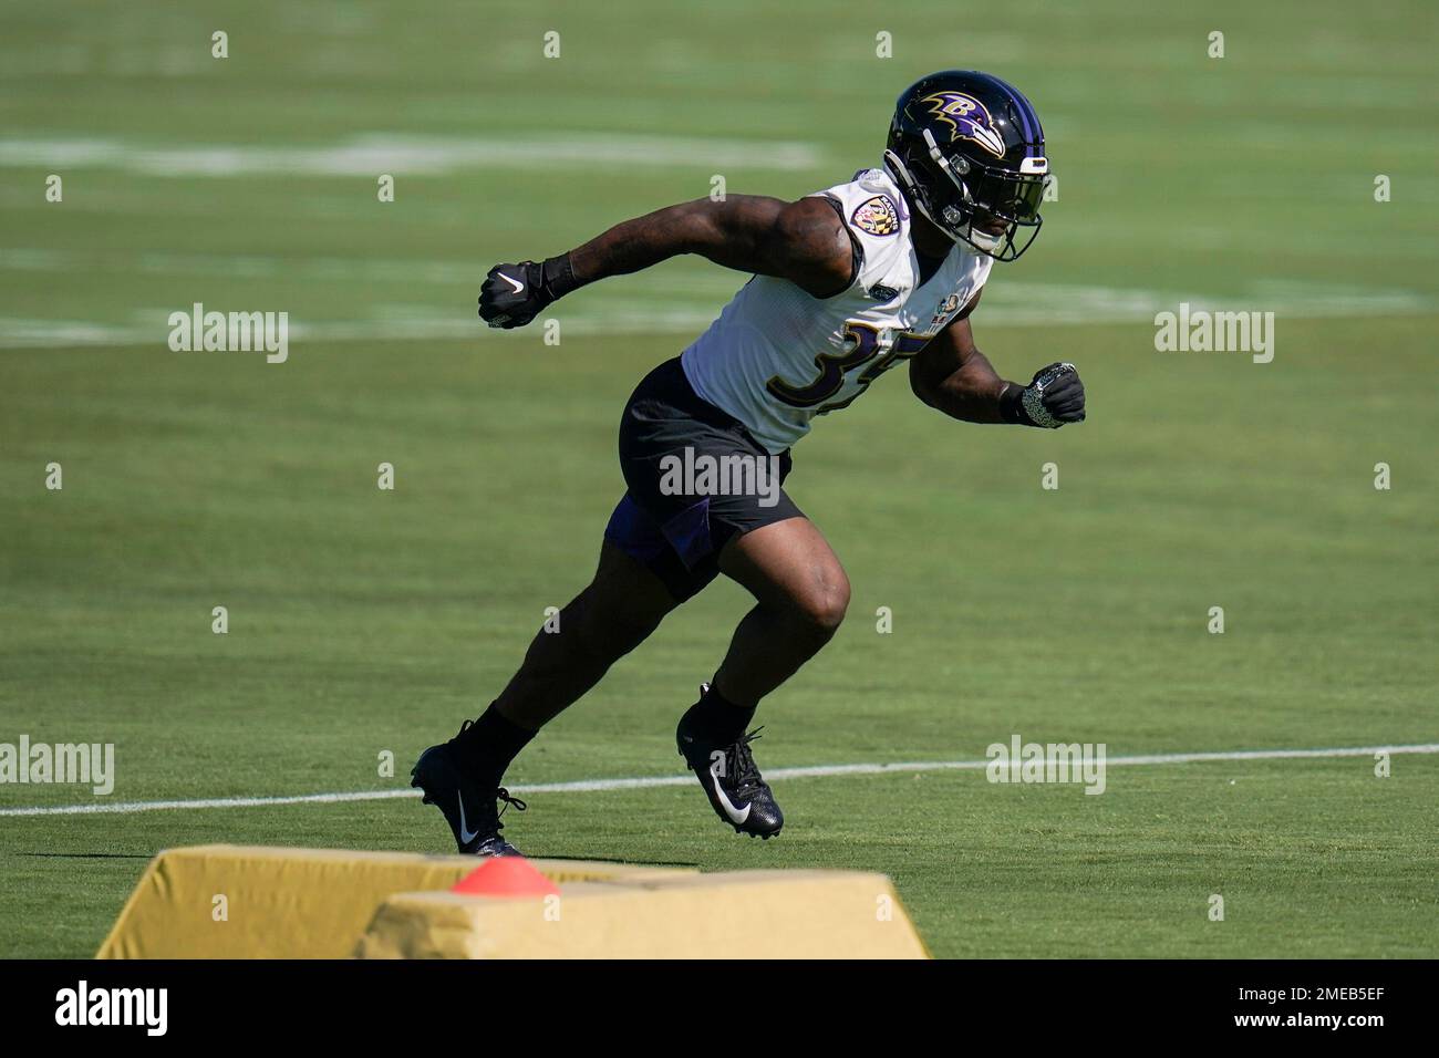
<svg viewBox="0 0 1439 1058"><path fill-rule="evenodd" d="M820 420L790 491L853 602L763 705L760 763L971 761L1013 733L1111 756L1439 743L1439 9L1014 3L974 23L6 6L0 743L115 743L118 777L109 797L0 785L0 956L92 954L173 845L448 851L410 797L14 810L403 790L583 584L623 489L625 397L744 281L696 261L609 281L555 307L545 345L478 325L485 269L715 174L780 196L845 180L898 91L945 66L1023 86L1059 174L976 335L1007 377L1079 364L1089 420L966 426L899 379ZM1181 301L1274 311L1274 361L1157 353L1154 314ZM289 360L171 353L167 315L193 302L288 311ZM721 583L678 612L512 785L676 773L673 721L744 607ZM938 956L1439 954L1433 753L1384 779L1368 756L1131 764L1104 796L979 770L776 792L789 822L766 844L688 786L537 793L507 836L884 871Z"/></svg>

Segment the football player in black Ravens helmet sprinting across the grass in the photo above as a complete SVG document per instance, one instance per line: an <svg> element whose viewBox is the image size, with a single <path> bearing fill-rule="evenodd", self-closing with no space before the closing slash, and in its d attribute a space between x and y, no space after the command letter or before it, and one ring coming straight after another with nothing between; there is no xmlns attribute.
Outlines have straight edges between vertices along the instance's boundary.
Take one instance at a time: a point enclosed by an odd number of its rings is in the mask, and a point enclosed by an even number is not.
<svg viewBox="0 0 1439 1058"><path fill-rule="evenodd" d="M776 468L783 482L790 448L814 416L846 407L901 363L915 396L954 419L1081 422L1084 384L1072 364L1007 381L970 328L994 262L1014 261L1039 233L1048 180L1029 101L987 73L945 71L899 96L882 164L848 183L799 202L669 206L568 253L489 271L479 315L505 328L586 284L679 253L753 275L709 330L629 399L619 430L627 489L594 579L561 610L558 633L535 635L489 708L416 763L413 785L445 813L462 852L515 852L499 833L499 806L524 808L502 787L511 760L721 573L748 589L754 607L679 718L676 744L722 822L751 836L780 832L750 723L760 700L835 635L849 582L783 489L715 489L699 478L676 488L665 468L702 456L748 461Z"/></svg>

